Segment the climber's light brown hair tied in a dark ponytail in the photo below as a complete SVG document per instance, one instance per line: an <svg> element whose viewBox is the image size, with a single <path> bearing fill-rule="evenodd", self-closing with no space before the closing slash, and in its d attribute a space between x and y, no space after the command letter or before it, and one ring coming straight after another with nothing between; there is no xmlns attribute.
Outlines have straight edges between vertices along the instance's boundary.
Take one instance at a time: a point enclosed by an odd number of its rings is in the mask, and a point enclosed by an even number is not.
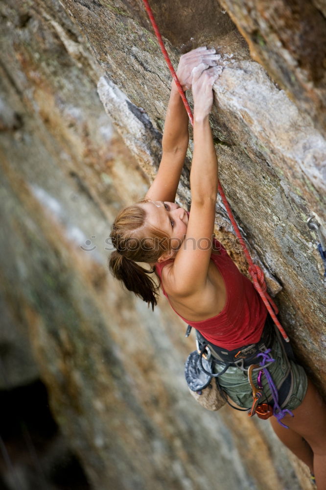
<svg viewBox="0 0 326 490"><path fill-rule="evenodd" d="M138 203L142 202L148 199ZM120 211L112 225L110 237L116 250L111 253L108 266L127 290L146 301L154 311L159 287L149 274L155 272L155 266L148 270L137 262L155 263L170 246L168 236L161 230L145 226L146 211L138 203Z"/></svg>

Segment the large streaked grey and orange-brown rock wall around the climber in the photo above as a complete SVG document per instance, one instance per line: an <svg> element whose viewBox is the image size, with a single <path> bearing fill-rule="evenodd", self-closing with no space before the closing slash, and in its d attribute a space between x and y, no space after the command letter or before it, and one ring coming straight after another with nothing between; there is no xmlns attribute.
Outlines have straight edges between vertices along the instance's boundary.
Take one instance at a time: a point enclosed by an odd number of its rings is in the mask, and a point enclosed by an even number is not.
<svg viewBox="0 0 326 490"><path fill-rule="evenodd" d="M197 3L153 8L175 65L202 44L222 55L211 119L220 179L296 352L325 393L324 270L305 224L314 215L325 226L323 78L289 61L301 56L300 36L291 44L288 32L278 54L283 31L268 29L282 2ZM320 16L318 8L309 3ZM197 406L183 379L194 348L184 322L165 298L149 312L108 274L110 225L155 175L169 95L140 0L6 0L0 21L1 295L28 335L30 377L40 372L94 489L310 488L268 423ZM320 41L317 30L309 42L318 60ZM184 205L190 160L191 144ZM220 201L215 231L233 238Z"/></svg>

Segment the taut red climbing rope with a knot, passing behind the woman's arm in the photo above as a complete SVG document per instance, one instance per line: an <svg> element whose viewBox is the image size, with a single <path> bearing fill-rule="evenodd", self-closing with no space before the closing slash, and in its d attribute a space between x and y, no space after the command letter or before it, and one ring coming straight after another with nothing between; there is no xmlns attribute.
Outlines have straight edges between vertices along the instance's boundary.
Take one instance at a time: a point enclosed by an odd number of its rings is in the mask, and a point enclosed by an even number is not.
<svg viewBox="0 0 326 490"><path fill-rule="evenodd" d="M181 98L185 104L185 107L186 107L186 111L187 111L187 114L189 116L189 119L190 119L190 122L191 124L193 125L193 116L192 116L192 112L191 112L191 109L189 107L189 104L188 104L188 101L186 99L186 95L185 95L185 92L183 91L183 88L181 86L181 83L178 79L178 76L177 74L175 73L175 70L172 66L172 63L171 63L171 60L170 60L170 57L165 49L165 46L164 46L164 43L163 43L163 39L162 39L162 36L160 34L160 31L159 31L159 28L155 22L155 19L154 19L154 15L153 15L153 12L152 12L152 9L151 7L149 6L149 3L147 0L143 0L144 2L144 5L145 5L145 9L147 11L147 14L148 14L148 17L149 17L149 20L151 21L151 24L153 26L153 29L154 29L154 32L156 34L156 37L157 37L157 40L159 42L159 45L161 47L161 50L162 50L162 53L163 53L163 56L164 56L164 59L167 63L167 66L169 67L169 70L172 74L172 77L178 87L178 90L180 92L180 95L181 95ZM270 295L267 293L267 286L266 286L266 282L265 282L265 276L264 276L264 272L260 269L260 267L256 266L254 263L253 263L253 260L250 256L250 253L244 243L244 240L241 236L241 233L240 233L240 230L239 230L239 227L238 225L236 224L235 220L234 220L234 216L233 216L233 213L231 211L231 208L230 208L230 205L227 201L227 198L225 197L225 194L224 194L224 191L223 191L223 188L221 186L221 184L219 183L218 184L218 191L221 195L221 198L222 198L222 201L223 201L223 204L228 212L228 215L229 215L229 218L232 222L232 225L233 225L233 228L234 228L234 231L235 231L235 234L236 236L238 237L239 239L239 242L242 246L242 249L243 249L243 252L246 256L246 259L247 259L247 262L248 262L248 271L249 271L249 274L251 275L252 279L253 279L253 283L254 283L254 286L255 286L255 289L256 291L258 292L258 294L260 295L261 299L263 300L266 308L267 308L267 311L268 313L270 314L270 316L272 317L272 319L274 320L274 323L275 325L278 327L280 333L282 334L282 337L284 338L284 340L286 342L289 342L289 338L288 336L286 335L286 332L284 330L284 328L282 327L282 325L279 323L279 320L277 319L276 315L279 313L279 310L276 306L276 304L274 303L274 301L272 300L272 298L270 297Z"/></svg>

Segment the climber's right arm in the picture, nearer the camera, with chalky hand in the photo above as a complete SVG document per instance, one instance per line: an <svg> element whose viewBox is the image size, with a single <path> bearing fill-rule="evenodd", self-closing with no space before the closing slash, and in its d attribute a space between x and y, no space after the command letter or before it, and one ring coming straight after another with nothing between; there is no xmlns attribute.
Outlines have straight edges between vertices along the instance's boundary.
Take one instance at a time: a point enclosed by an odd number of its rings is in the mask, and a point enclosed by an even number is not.
<svg viewBox="0 0 326 490"><path fill-rule="evenodd" d="M218 77L214 68L193 70L194 152L190 171L191 207L186 238L174 260L169 283L176 294L186 296L207 286L218 163L209 123L213 103L212 87Z"/></svg>

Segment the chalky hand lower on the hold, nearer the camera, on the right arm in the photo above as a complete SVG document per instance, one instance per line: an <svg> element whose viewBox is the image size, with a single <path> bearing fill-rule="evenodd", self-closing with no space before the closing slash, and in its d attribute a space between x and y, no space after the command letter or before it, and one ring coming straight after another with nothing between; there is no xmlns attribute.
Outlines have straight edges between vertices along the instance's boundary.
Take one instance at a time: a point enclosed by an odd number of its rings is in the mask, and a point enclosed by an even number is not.
<svg viewBox="0 0 326 490"><path fill-rule="evenodd" d="M221 73L221 67L205 69L204 64L192 70L192 95L194 101L194 119L205 119L213 105L213 85Z"/></svg>

